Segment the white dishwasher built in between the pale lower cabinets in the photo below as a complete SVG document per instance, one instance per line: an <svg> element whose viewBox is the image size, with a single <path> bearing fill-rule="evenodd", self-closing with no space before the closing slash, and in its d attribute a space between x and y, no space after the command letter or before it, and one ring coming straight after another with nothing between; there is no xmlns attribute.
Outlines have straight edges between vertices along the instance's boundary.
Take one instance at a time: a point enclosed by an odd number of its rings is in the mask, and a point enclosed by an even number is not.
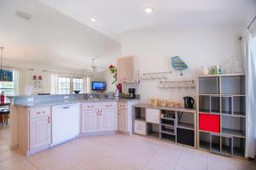
<svg viewBox="0 0 256 170"><path fill-rule="evenodd" d="M52 144L79 136L79 104L52 106Z"/></svg>

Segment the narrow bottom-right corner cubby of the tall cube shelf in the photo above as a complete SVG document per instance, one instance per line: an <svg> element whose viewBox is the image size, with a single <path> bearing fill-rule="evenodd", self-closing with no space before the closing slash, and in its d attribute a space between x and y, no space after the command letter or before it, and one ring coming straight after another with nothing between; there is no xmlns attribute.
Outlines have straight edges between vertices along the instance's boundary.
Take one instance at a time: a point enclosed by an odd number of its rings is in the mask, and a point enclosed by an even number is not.
<svg viewBox="0 0 256 170"><path fill-rule="evenodd" d="M246 145L246 139L234 137L233 138L233 155L244 157L245 145Z"/></svg>

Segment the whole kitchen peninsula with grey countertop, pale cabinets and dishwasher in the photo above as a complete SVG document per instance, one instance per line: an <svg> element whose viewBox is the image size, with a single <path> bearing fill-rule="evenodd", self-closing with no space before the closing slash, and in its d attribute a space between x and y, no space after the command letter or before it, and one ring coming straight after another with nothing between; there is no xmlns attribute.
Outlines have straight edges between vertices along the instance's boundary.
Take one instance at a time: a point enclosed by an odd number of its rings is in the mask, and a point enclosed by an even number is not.
<svg viewBox="0 0 256 170"><path fill-rule="evenodd" d="M30 156L83 135L131 134L137 101L114 99L113 94L14 97L11 147Z"/></svg>

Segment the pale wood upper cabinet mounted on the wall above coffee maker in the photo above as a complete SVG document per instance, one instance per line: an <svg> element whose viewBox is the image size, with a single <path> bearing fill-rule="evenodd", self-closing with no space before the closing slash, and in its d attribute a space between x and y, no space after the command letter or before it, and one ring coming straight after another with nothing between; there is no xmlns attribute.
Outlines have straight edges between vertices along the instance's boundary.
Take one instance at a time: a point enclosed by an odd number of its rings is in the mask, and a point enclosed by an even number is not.
<svg viewBox="0 0 256 170"><path fill-rule="evenodd" d="M117 69L118 69L118 74L117 74L118 83L135 82L133 56L118 58Z"/></svg>

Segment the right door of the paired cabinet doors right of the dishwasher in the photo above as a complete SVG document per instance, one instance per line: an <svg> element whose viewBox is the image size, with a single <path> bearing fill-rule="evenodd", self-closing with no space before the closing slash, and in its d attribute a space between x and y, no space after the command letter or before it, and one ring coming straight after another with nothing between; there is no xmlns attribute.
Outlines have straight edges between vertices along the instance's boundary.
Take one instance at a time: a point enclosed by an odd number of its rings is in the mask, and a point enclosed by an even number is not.
<svg viewBox="0 0 256 170"><path fill-rule="evenodd" d="M114 131L116 130L116 114L115 110L101 110L101 128L102 131Z"/></svg>

